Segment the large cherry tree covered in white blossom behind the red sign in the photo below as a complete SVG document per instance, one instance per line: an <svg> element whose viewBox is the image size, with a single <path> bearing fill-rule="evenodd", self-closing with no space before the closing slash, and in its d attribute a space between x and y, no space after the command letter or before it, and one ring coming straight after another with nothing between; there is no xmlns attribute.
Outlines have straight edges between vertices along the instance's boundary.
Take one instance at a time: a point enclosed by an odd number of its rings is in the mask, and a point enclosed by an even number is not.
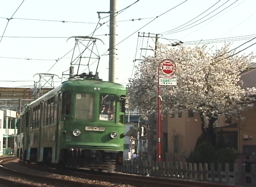
<svg viewBox="0 0 256 187"><path fill-rule="evenodd" d="M214 144L213 124L218 114L235 115L253 106L256 89L241 89L240 73L255 58L235 55L231 44L214 47L170 47L158 44L156 56L144 57L135 67L130 80L131 108L138 108L147 118L148 111L158 110L158 65L172 59L177 66L177 86L161 86L162 114L175 114L177 109L200 114L204 140ZM153 49L153 48L152 48ZM160 72L160 75L162 72Z"/></svg>

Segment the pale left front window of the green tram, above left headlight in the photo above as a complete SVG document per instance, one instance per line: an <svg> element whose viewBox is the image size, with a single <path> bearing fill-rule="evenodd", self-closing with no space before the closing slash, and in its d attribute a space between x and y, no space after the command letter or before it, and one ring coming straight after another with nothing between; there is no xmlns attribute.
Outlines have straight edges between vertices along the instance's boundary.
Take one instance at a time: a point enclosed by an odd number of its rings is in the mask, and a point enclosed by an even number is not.
<svg viewBox="0 0 256 187"><path fill-rule="evenodd" d="M94 113L94 95L76 94L75 119L91 120Z"/></svg>

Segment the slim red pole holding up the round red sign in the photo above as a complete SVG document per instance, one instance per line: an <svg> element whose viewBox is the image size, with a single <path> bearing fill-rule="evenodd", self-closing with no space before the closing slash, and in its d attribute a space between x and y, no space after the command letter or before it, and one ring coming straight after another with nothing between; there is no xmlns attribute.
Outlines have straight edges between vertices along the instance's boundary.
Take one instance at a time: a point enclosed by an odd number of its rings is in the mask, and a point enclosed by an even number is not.
<svg viewBox="0 0 256 187"><path fill-rule="evenodd" d="M161 135L162 135L162 114L161 114L161 87L159 84L159 67L161 65L161 62L158 65L158 161L161 162Z"/></svg>

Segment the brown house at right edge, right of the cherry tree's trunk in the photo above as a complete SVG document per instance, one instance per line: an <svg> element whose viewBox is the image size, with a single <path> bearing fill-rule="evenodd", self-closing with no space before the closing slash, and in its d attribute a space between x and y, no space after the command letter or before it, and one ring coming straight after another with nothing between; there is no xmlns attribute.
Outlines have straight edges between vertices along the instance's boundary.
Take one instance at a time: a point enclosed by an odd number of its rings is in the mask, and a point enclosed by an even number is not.
<svg viewBox="0 0 256 187"><path fill-rule="evenodd" d="M252 65L250 66L252 67ZM245 71L241 74L243 84L241 88L256 87L256 69ZM254 107L241 112L245 119L235 117L219 117L215 132L218 136L220 131L228 141L230 147L238 149L244 155L256 155L256 102Z"/></svg>

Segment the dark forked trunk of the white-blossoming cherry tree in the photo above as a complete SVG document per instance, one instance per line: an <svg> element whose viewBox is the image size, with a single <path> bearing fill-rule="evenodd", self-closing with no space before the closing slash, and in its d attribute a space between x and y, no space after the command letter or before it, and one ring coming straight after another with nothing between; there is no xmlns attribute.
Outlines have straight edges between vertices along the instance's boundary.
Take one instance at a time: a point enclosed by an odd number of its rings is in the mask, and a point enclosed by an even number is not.
<svg viewBox="0 0 256 187"><path fill-rule="evenodd" d="M203 140L206 142L210 142L213 146L215 146L216 136L213 129L213 124L217 120L217 117L215 116L208 117L209 124L207 128L205 127L205 124L204 124L205 121L202 113L200 113L200 118L201 118L201 130L202 130Z"/></svg>

